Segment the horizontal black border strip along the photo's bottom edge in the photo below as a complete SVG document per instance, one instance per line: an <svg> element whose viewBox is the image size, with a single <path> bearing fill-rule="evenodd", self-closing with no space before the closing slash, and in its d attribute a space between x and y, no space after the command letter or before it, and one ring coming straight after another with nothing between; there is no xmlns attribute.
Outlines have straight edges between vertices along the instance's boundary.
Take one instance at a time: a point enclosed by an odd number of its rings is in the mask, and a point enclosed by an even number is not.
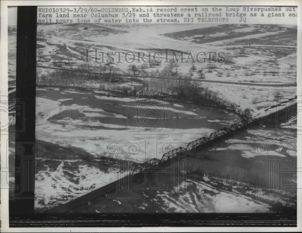
<svg viewBox="0 0 302 233"><path fill-rule="evenodd" d="M17 215L10 227L297 227L296 213L104 213Z"/></svg>

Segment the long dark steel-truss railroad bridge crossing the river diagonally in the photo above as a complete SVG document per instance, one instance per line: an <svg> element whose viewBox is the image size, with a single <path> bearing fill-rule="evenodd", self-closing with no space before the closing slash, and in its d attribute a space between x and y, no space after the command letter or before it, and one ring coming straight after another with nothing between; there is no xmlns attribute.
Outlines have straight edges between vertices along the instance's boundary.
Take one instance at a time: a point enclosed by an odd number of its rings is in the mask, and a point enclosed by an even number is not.
<svg viewBox="0 0 302 233"><path fill-rule="evenodd" d="M78 197L74 200L71 200L67 203L60 204L55 206L52 209L49 209L47 212L67 212L70 209L76 208L82 204L87 203L90 200L95 198L107 195L108 198L140 198L139 194L133 193L133 189L146 189L146 179L147 175L151 173L156 173L155 179L157 180L158 172L171 172L172 173L172 182L171 191L173 189L185 191L184 181L186 180L185 168L186 168L186 157L191 156L197 150L204 149L208 146L213 145L213 143L222 140L226 137L231 137L238 131L244 130L246 128L252 127L258 124L256 118L246 118L242 121L239 121L235 124L232 124L230 128L223 128L217 130L210 134L209 137L201 137L197 140L194 140L183 147L175 148L174 150L168 151L162 155L161 159L153 158L149 159L134 168L131 168L131 156L117 156L117 165L120 165L121 169L120 174L117 174L117 180L107 184L101 188L91 191L88 194L85 194L81 197ZM123 167L123 169L122 169ZM125 171L126 167L126 171ZM132 170L133 169L133 170ZM121 174L123 171L123 174ZM119 173L119 172L118 172ZM128 175L125 175L128 174ZM154 176L153 176L154 177ZM132 187L132 181L137 181L144 178L145 183L143 185L134 185ZM154 179L154 178L153 178ZM157 183L157 182L155 182ZM168 189L167 185L158 184L156 189ZM152 189L152 188L151 188ZM108 194L115 190L114 194ZM172 193L171 192L171 193ZM168 194L169 196L169 194ZM193 197L193 196L192 196Z"/></svg>

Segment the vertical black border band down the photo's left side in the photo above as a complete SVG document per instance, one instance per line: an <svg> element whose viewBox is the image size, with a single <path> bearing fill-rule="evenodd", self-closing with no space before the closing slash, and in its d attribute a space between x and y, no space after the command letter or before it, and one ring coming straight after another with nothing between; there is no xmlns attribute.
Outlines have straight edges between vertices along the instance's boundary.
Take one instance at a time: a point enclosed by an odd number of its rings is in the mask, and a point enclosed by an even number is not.
<svg viewBox="0 0 302 233"><path fill-rule="evenodd" d="M15 154L15 168L20 172L15 172L18 188L14 191L13 209L15 213L34 213L35 159L32 145L35 143L36 124L37 7L18 6L17 17L16 98L23 103L23 110L22 114L16 114L18 133L15 146L20 146L24 152Z"/></svg>

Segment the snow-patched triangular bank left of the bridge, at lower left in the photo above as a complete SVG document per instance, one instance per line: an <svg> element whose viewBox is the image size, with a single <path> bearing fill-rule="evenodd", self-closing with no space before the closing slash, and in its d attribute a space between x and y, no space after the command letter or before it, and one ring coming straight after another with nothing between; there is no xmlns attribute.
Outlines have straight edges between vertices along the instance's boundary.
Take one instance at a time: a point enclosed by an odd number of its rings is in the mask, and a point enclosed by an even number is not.
<svg viewBox="0 0 302 233"><path fill-rule="evenodd" d="M51 169L49 164L54 161L57 167ZM37 159L37 164L44 164L44 170L36 172L35 208L38 211L65 203L116 180L117 169L114 166L102 171L96 166L84 164L82 160L54 161Z"/></svg>

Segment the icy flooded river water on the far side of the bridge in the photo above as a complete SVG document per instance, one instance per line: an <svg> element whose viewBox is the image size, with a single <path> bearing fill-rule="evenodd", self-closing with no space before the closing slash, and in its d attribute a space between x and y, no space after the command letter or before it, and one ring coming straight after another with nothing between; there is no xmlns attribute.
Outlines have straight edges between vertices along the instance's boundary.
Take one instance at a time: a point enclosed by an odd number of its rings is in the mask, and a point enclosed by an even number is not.
<svg viewBox="0 0 302 233"><path fill-rule="evenodd" d="M130 97L61 87L37 88L36 102L37 139L75 146L94 156L107 153L110 143L119 143L120 153L127 151L123 143L138 143L140 153L132 156L138 162L161 156L165 152L161 151L162 144L185 145L239 121L236 114L214 107L154 103L153 99L142 105L141 102L129 103ZM127 106L129 104L134 107ZM138 114L145 114L145 118L139 121ZM144 126L156 126L157 130Z"/></svg>

